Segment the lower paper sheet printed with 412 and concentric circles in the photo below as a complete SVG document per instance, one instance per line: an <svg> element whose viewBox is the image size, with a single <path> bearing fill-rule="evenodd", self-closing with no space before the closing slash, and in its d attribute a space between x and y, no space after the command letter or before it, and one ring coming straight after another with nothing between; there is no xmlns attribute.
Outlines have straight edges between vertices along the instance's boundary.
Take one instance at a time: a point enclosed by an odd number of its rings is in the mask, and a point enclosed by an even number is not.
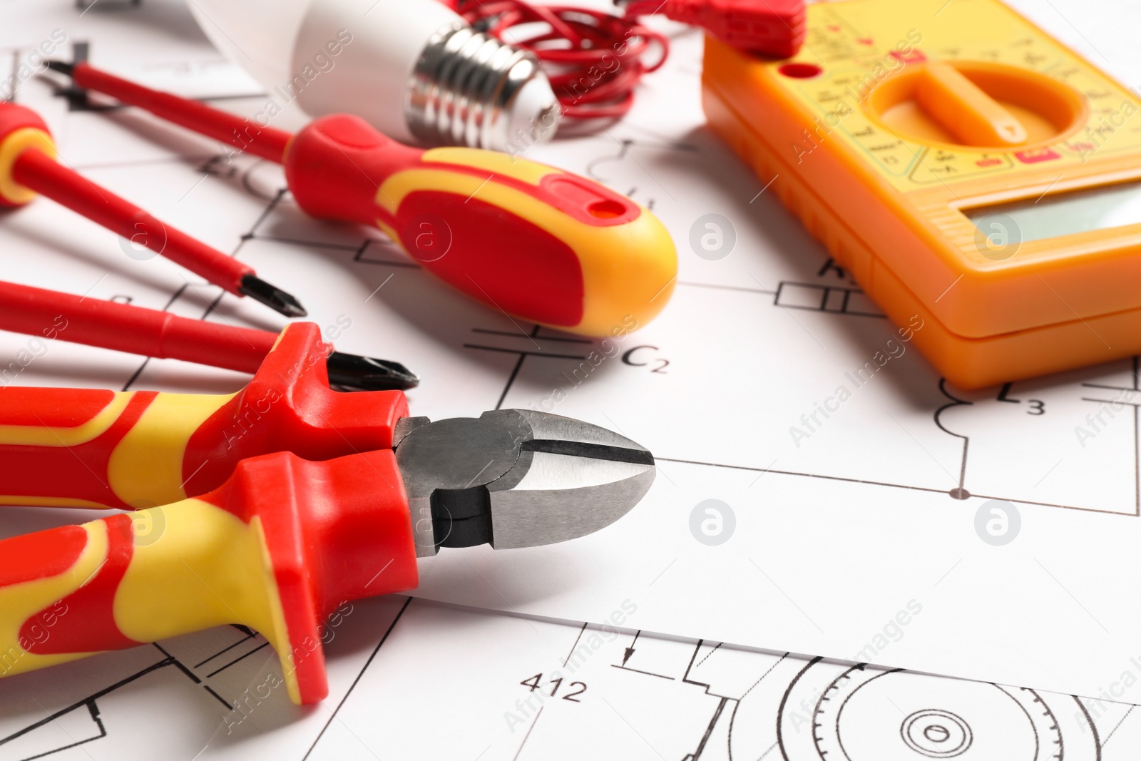
<svg viewBox="0 0 1141 761"><path fill-rule="evenodd" d="M630 602L612 615L622 615ZM408 598L346 609L332 694L290 705L217 629L0 685L0 759L1127 761L1108 701ZM15 687L19 689L13 689ZM228 707L227 703L229 706Z"/></svg>

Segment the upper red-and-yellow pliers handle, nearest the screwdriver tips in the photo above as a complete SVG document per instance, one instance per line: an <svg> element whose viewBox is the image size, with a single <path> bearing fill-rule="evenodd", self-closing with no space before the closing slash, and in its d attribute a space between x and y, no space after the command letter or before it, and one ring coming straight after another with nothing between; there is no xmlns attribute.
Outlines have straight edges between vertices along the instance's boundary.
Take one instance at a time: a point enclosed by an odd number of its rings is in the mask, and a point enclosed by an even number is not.
<svg viewBox="0 0 1141 761"><path fill-rule="evenodd" d="M313 323L282 332L230 395L9 386L0 504L152 508L217 488L246 458L331 460L393 446L402 391L334 391Z"/></svg>

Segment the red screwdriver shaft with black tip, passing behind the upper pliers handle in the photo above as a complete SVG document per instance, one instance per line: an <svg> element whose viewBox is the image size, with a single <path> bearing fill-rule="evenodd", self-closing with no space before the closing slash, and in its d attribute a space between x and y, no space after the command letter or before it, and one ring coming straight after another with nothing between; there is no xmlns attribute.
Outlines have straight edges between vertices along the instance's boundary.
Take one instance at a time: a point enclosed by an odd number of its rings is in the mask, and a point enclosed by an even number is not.
<svg viewBox="0 0 1141 761"><path fill-rule="evenodd" d="M270 331L219 325L3 281L0 281L0 330L244 373L257 372L278 340L278 334ZM408 389L420 382L398 362L334 351L330 346L314 350L322 353L335 386L382 390ZM7 381L5 373L10 370L10 365L0 366L0 380Z"/></svg>

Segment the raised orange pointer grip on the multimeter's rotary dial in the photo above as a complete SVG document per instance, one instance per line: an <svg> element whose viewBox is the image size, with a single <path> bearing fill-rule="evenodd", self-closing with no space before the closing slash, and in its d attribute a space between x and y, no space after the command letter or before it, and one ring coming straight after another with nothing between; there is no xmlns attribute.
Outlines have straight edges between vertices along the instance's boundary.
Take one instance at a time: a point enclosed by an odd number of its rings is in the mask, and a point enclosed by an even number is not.
<svg viewBox="0 0 1141 761"><path fill-rule="evenodd" d="M963 145L1014 147L1027 141L1026 127L1013 114L946 62L924 64L915 97Z"/></svg>

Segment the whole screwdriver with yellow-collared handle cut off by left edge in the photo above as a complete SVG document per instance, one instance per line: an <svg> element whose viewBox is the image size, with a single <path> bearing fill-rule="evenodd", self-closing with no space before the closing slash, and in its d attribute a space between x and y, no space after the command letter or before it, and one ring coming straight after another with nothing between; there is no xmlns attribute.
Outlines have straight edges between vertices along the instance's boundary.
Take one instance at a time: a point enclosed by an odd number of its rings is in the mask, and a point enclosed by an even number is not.
<svg viewBox="0 0 1141 761"><path fill-rule="evenodd" d="M48 126L31 108L0 103L0 207L43 195L189 269L234 296L248 296L286 317L305 317L292 294L258 277L249 265L191 237L56 161Z"/></svg>

